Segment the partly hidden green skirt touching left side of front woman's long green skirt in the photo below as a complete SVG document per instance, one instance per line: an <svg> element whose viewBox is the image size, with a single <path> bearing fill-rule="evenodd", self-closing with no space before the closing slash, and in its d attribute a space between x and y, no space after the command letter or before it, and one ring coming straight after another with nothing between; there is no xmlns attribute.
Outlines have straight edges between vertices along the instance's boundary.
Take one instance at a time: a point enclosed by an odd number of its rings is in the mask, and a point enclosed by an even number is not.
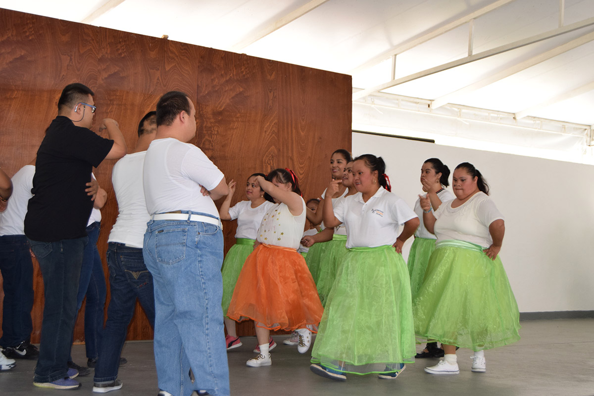
<svg viewBox="0 0 594 396"><path fill-rule="evenodd" d="M318 289L322 306L326 306L326 300L336 279L338 268L345 261L346 253L349 251L346 248L346 235L333 235L332 240L326 242L324 246L324 257L315 277L317 278L315 286Z"/></svg>

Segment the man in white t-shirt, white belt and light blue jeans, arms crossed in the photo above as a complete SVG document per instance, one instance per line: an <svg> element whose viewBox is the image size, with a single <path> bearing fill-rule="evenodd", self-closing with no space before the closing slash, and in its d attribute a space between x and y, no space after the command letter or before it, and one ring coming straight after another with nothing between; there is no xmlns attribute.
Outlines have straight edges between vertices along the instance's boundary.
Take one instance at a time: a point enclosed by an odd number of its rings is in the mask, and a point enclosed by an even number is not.
<svg viewBox="0 0 594 396"><path fill-rule="evenodd" d="M223 331L223 233L213 199L229 194L223 173L195 145L189 97L157 103L157 137L144 158L144 198L151 220L144 262L153 275L154 356L159 395L206 389L229 395ZM192 381L189 373L194 374Z"/></svg>

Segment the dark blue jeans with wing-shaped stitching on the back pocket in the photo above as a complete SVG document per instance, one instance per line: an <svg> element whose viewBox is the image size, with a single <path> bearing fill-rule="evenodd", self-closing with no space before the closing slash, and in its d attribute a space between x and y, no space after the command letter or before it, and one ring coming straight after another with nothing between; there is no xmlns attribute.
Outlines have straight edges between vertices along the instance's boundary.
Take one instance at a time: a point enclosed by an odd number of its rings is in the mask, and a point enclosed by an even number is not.
<svg viewBox="0 0 594 396"><path fill-rule="evenodd" d="M107 258L111 298L94 382L112 382L118 378L119 357L137 298L154 328L153 276L144 265L143 249L109 242Z"/></svg>

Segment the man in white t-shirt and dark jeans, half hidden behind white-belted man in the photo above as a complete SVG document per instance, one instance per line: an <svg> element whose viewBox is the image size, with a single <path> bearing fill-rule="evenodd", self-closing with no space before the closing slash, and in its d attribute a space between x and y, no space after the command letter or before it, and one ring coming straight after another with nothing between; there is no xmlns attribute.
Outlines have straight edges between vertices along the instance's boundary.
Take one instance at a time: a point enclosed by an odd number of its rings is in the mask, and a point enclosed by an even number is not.
<svg viewBox="0 0 594 396"><path fill-rule="evenodd" d="M96 362L94 392L109 392L122 387L118 379L121 351L136 300L154 328L153 277L143 259L144 232L150 220L144 202L144 155L157 134L157 113L147 113L138 124L138 141L131 154L113 166L112 183L118 201L118 218L109 233L108 321L103 329Z"/></svg>

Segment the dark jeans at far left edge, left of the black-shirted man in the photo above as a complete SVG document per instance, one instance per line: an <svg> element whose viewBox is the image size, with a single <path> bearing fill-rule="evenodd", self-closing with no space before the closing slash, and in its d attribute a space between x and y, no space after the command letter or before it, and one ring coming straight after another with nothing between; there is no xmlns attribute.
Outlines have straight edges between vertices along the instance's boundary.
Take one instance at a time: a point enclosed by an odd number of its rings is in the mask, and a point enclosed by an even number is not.
<svg viewBox="0 0 594 396"><path fill-rule="evenodd" d="M0 236L0 271L4 282L0 345L15 347L29 340L33 331L33 262L26 236Z"/></svg>

